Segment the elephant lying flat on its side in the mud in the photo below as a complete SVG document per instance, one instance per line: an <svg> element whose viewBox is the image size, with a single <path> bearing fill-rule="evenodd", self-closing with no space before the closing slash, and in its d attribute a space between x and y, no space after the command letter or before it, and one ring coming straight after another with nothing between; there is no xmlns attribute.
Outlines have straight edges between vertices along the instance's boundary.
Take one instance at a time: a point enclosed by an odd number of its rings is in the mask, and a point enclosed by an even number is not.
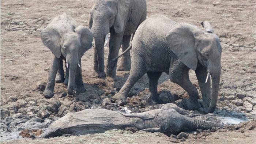
<svg viewBox="0 0 256 144"><path fill-rule="evenodd" d="M76 113L68 113L53 122L40 137L49 138L63 134L94 134L127 127L171 135L223 126L218 122L202 121L187 117L184 114L186 111L173 103L167 103L161 109L132 114L123 114L106 109L86 109Z"/></svg>

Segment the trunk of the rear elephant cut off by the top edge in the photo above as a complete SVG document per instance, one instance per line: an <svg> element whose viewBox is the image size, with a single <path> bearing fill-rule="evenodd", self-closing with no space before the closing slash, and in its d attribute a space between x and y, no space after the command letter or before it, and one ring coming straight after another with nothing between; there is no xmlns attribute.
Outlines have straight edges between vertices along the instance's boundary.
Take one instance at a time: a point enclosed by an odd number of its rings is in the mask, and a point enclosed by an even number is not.
<svg viewBox="0 0 256 144"><path fill-rule="evenodd" d="M104 42L105 35L109 33L108 24L102 20L93 20L92 32L95 41L94 69L104 72Z"/></svg>

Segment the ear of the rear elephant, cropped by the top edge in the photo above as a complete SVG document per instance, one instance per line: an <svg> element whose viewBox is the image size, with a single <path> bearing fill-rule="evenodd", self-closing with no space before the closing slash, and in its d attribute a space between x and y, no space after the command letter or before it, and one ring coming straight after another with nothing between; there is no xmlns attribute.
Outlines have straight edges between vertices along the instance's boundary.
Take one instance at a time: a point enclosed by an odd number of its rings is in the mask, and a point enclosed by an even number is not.
<svg viewBox="0 0 256 144"><path fill-rule="evenodd" d="M124 30L124 21L127 18L129 11L129 0L116 0L117 14L114 21L114 30L116 33L121 33Z"/></svg>

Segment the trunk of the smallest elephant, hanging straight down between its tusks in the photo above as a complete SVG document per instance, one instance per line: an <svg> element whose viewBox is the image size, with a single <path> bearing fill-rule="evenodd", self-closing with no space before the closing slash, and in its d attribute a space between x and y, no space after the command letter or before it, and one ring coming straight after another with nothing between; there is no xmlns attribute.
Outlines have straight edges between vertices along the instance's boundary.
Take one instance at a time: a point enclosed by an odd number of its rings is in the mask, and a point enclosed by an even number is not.
<svg viewBox="0 0 256 144"><path fill-rule="evenodd" d="M78 56L70 57L70 60L67 61L68 63L68 94L73 95L73 90L75 86L75 75L76 75L76 68L78 66Z"/></svg>

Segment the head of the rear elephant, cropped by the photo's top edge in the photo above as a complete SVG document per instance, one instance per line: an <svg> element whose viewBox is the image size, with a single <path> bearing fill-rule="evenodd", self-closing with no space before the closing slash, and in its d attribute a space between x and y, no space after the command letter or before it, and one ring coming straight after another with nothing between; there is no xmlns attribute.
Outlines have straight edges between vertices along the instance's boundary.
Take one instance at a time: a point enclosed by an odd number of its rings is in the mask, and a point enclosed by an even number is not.
<svg viewBox="0 0 256 144"><path fill-rule="evenodd" d="M113 27L116 33L124 31L124 22L129 11L129 0L94 0L90 11L89 28L93 32L98 61L104 63L105 35ZM99 68L100 71L104 69Z"/></svg>

